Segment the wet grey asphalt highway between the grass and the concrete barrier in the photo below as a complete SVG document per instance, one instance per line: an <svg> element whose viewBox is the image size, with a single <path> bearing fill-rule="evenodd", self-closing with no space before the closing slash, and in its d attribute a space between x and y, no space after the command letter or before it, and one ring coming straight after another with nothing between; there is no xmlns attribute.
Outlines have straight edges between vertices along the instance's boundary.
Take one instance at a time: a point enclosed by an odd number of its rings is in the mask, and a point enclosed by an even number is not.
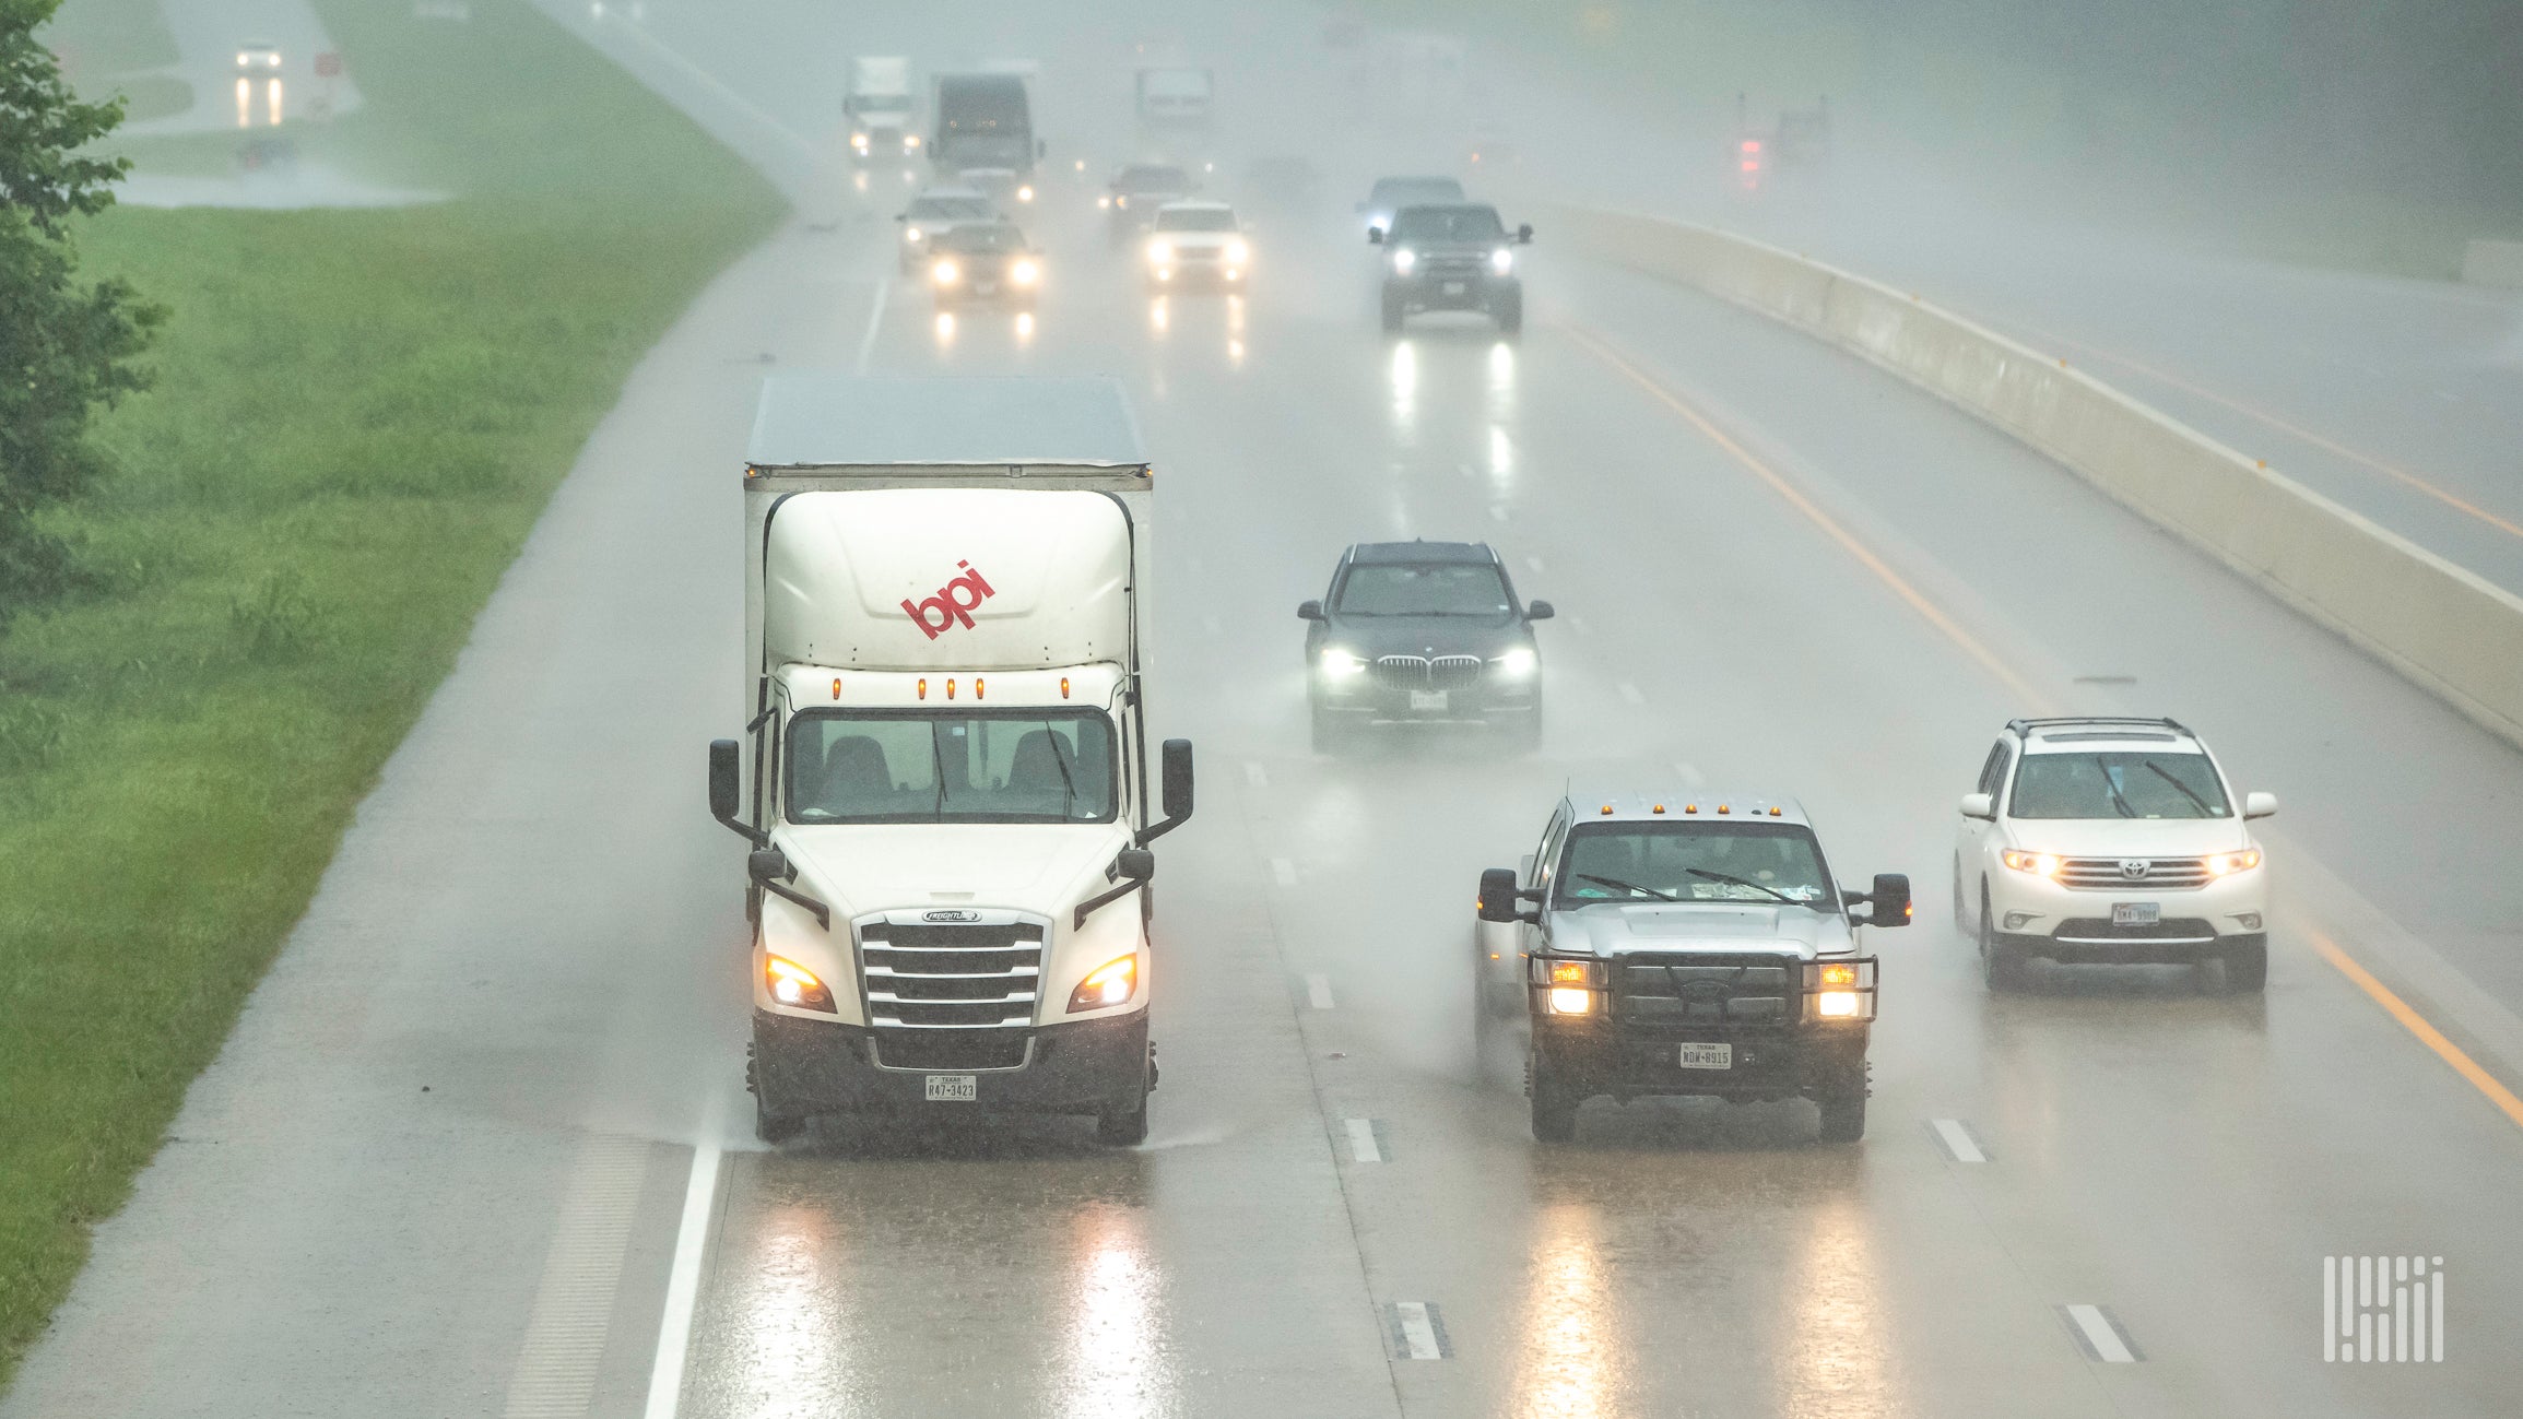
<svg viewBox="0 0 2523 1419"><path fill-rule="evenodd" d="M772 10L684 25L653 13L699 66L777 68ZM828 176L641 371L194 1091L204 1147L101 1230L0 1414L2510 1409L2523 1127L2319 943L2523 1084L2523 756L1960 413L1549 232L1519 345L1395 343L1337 181L1264 227L1241 302L1150 300L1057 184L1039 318L941 325L893 275L893 179ZM699 746L737 718L764 355L1130 386L1150 716L1201 751L1143 1149L744 1137L739 852ZM1307 749L1297 600L1342 544L1418 534L1491 539L1557 602L1539 754ZM2266 998L2177 968L1981 988L1953 799L2034 711L2177 713L2283 796ZM1789 791L1842 877L1912 875L1917 925L1872 943L1862 1144L1698 1101L1529 1139L1514 1061L1471 1051L1468 902L1572 774ZM696 1137L727 1154L679 1268ZM2447 1258L2447 1364L2321 1364L2334 1253Z"/></svg>

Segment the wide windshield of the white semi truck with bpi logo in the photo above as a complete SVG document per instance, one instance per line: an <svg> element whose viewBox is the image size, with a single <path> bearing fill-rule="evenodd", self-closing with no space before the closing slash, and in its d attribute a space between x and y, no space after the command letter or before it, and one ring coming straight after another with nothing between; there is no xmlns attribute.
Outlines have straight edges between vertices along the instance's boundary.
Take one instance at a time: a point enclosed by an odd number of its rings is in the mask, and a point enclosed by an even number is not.
<svg viewBox="0 0 2523 1419"><path fill-rule="evenodd" d="M805 711L787 733L787 819L1113 822L1100 711Z"/></svg>

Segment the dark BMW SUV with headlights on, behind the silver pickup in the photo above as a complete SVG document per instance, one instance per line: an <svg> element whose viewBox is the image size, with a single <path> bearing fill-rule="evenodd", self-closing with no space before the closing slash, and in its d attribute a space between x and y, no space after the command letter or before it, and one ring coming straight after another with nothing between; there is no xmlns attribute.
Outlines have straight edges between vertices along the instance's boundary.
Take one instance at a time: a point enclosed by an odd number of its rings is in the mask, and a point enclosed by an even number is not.
<svg viewBox="0 0 2523 1419"><path fill-rule="evenodd" d="M1297 607L1314 749L1370 723L1486 723L1542 741L1542 648L1552 602L1516 602L1486 542L1360 542L1332 590Z"/></svg>

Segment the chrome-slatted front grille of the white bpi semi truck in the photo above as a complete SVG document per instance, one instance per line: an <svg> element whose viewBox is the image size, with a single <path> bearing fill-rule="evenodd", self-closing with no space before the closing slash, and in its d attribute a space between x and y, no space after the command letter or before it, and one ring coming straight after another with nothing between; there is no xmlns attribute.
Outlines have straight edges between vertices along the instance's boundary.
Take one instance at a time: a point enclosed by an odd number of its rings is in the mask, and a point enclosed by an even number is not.
<svg viewBox="0 0 2523 1419"><path fill-rule="evenodd" d="M860 996L875 1028L971 1031L1034 1023L1045 922L1017 912L883 912L858 930Z"/></svg>

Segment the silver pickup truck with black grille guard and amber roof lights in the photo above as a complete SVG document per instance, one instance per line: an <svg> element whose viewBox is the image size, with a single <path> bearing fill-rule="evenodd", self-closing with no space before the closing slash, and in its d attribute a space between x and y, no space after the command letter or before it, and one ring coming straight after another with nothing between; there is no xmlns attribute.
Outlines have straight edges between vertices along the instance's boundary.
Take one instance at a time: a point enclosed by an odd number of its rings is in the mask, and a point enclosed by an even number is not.
<svg viewBox="0 0 2523 1419"><path fill-rule="evenodd" d="M1794 799L1579 786L1524 867L1481 872L1473 1021L1521 1021L1537 1142L1592 1096L1812 1099L1867 1127L1875 973L1910 880L1839 887Z"/></svg>

